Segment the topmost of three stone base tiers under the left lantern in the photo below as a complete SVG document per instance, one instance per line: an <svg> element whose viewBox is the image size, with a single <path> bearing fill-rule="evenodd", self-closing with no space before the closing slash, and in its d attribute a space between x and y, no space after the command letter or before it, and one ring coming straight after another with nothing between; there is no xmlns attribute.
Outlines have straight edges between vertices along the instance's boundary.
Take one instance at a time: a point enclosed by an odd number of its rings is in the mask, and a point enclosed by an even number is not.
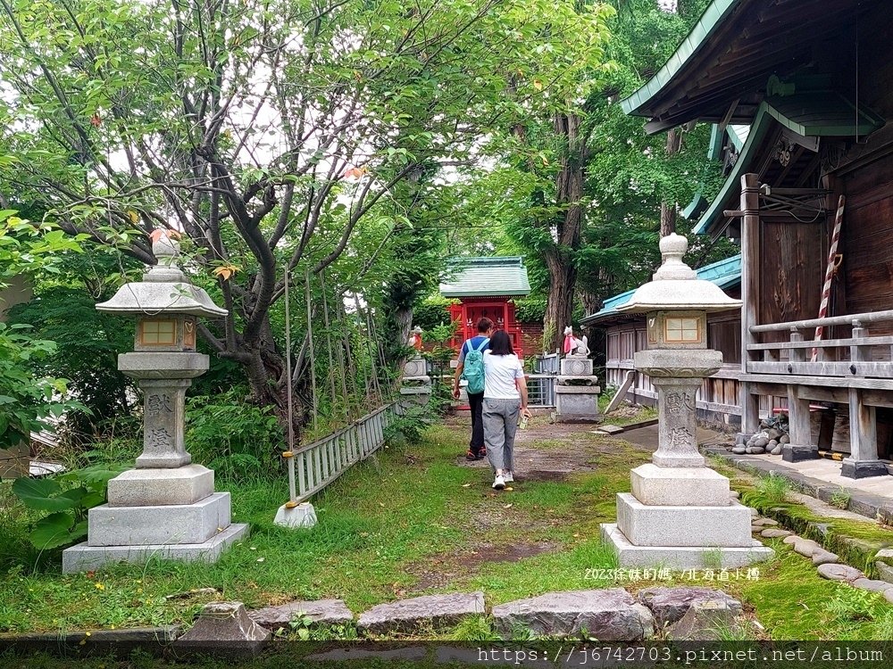
<svg viewBox="0 0 893 669"><path fill-rule="evenodd" d="M193 504L212 495L213 491L213 470L201 465L177 469L130 469L109 481L108 503L112 507Z"/></svg>

